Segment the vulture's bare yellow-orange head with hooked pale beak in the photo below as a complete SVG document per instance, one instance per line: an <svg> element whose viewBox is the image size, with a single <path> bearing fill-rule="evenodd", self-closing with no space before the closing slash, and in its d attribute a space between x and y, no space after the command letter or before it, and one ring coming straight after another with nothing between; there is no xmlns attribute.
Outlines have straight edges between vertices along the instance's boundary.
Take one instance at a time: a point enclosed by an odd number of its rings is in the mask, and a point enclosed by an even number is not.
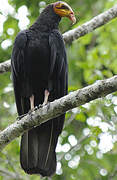
<svg viewBox="0 0 117 180"><path fill-rule="evenodd" d="M72 8L63 1L58 1L53 4L54 12L60 17L68 17L73 24L76 23L76 18Z"/></svg>

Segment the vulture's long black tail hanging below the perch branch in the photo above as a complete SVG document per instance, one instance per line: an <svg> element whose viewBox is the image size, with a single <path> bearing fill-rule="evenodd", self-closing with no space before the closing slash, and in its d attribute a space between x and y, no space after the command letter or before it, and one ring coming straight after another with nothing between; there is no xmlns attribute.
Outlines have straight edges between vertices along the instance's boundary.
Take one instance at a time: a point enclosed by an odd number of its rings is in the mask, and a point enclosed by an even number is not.
<svg viewBox="0 0 117 180"><path fill-rule="evenodd" d="M61 118L60 118L61 117ZM56 171L55 148L64 116L50 120L28 132L21 139L20 162L28 174L51 176Z"/></svg>

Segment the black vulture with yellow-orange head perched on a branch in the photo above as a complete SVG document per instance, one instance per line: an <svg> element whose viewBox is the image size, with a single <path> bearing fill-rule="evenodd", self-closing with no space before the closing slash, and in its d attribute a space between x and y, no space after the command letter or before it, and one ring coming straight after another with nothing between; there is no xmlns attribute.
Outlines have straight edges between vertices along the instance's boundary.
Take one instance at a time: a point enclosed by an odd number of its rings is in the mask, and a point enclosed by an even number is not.
<svg viewBox="0 0 117 180"><path fill-rule="evenodd" d="M61 17L68 17L73 23L76 21L68 4L62 1L50 4L36 22L15 39L11 69L19 116L67 94L67 57L58 30ZM65 114L22 135L20 163L26 173L54 174L55 148L64 118Z"/></svg>

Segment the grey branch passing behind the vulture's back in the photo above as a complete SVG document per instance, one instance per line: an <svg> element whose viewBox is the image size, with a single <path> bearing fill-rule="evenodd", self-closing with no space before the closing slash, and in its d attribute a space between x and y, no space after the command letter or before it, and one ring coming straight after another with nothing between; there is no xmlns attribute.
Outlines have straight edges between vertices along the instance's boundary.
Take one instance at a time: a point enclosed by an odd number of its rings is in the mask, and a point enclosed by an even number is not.
<svg viewBox="0 0 117 180"><path fill-rule="evenodd" d="M84 36L95 30L96 28L108 23L112 19L117 17L117 5L113 6L109 10L99 14L90 21L84 23L77 28L67 31L63 34L65 43L71 43L72 41ZM10 71L10 60L0 64L0 73Z"/></svg>

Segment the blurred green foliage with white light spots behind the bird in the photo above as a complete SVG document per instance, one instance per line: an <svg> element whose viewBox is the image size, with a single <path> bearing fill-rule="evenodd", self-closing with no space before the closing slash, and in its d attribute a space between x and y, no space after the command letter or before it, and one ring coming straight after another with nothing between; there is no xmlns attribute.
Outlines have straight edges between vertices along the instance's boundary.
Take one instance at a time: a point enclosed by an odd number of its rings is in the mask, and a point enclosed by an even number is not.
<svg viewBox="0 0 117 180"><path fill-rule="evenodd" d="M117 3L117 0L65 0L77 23L64 18L64 33ZM28 28L54 0L0 0L0 62L11 57L17 33ZM117 19L66 45L69 93L117 74ZM17 117L10 72L0 74L0 131ZM66 114L56 148L53 180L117 180L117 93L72 109ZM19 164L17 138L0 152L0 180L39 180L26 175Z"/></svg>

